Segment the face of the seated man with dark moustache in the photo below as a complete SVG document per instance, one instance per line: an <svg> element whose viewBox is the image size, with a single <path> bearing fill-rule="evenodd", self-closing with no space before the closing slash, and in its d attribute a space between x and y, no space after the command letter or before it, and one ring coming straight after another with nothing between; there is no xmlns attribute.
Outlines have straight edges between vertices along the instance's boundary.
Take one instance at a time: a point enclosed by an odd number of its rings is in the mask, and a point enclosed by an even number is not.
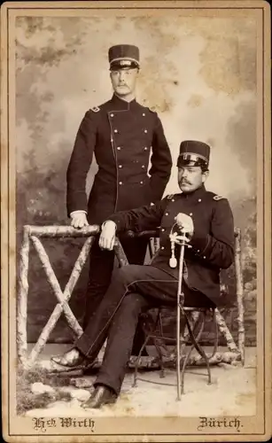
<svg viewBox="0 0 272 443"><path fill-rule="evenodd" d="M201 167L184 166L178 168L178 184L183 192L192 192L206 182L208 171L202 172Z"/></svg>

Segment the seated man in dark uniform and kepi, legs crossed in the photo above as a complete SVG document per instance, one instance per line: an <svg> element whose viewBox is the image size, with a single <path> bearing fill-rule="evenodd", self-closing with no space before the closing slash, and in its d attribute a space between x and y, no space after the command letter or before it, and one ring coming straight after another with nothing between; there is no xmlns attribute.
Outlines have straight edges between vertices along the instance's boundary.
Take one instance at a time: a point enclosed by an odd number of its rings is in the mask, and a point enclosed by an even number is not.
<svg viewBox="0 0 272 443"><path fill-rule="evenodd" d="M186 233L191 246L184 254L184 306L216 307L220 303L220 270L229 268L234 260L234 224L228 200L205 189L209 157L207 144L182 142L177 160L182 192L155 205L113 214L102 226L99 245L104 249L113 250L115 235L121 231L157 227L160 247L150 265L128 265L117 271L74 347L62 357L52 358L65 367L94 361L107 338L95 390L84 408L100 408L117 399L138 316L152 307L176 305L178 266L169 266L173 225Z"/></svg>

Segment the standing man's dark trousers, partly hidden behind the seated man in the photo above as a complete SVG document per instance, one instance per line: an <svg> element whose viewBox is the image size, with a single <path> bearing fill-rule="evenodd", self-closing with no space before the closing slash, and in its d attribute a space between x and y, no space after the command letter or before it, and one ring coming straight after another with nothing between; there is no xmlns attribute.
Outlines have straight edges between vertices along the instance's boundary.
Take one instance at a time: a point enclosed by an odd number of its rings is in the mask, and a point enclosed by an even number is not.
<svg viewBox="0 0 272 443"><path fill-rule="evenodd" d="M146 238L121 238L120 243L127 256L128 263L143 265L148 245ZM98 237L92 245L89 256L89 283L86 297L83 330L86 329L89 318L97 310L98 305L105 296L105 291L111 283L114 265L114 252L103 251L98 245ZM144 343L144 331L137 326L133 346L133 354L138 354Z"/></svg>

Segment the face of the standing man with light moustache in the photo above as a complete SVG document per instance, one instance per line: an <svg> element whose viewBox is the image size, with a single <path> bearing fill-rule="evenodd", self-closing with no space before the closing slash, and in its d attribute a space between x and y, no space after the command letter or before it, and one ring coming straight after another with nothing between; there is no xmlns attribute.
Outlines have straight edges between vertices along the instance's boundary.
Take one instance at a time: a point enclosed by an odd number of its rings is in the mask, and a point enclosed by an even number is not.
<svg viewBox="0 0 272 443"><path fill-rule="evenodd" d="M120 97L128 96L136 89L136 79L138 76L138 69L119 69L111 71L111 81L113 90Z"/></svg>

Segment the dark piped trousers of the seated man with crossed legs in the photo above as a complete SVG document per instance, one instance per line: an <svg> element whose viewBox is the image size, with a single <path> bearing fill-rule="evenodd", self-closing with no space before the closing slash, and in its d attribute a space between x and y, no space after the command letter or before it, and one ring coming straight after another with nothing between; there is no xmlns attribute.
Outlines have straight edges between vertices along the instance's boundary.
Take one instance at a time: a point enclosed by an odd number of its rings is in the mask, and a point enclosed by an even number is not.
<svg viewBox="0 0 272 443"><path fill-rule="evenodd" d="M93 360L107 338L103 363L94 385L109 386L119 394L133 346L138 316L151 307L175 307L176 291L177 280L159 268L129 265L116 272L104 299L75 343L82 354ZM185 284L183 292L186 306L214 306L204 294L191 291Z"/></svg>

